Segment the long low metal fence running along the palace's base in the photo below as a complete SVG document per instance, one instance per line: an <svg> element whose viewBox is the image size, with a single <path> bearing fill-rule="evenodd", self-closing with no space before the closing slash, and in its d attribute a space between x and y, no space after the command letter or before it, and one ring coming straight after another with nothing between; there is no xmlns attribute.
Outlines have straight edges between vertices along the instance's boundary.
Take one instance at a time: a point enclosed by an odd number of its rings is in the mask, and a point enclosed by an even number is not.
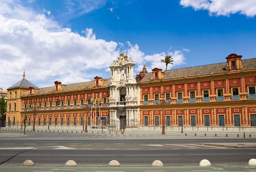
<svg viewBox="0 0 256 172"><path fill-rule="evenodd" d="M4 124L6 124L5 127L21 127L24 126L24 123L22 121L2 121L2 127L4 127ZM121 129L139 129L139 130L161 130L162 129L162 121L158 120L158 118L154 120L108 120L105 119L103 121L101 120L91 120L91 121L70 121L67 123L67 121L52 121L51 123L48 123L48 121L41 121L36 119L34 120L27 120L26 121L26 127L33 127L35 125L36 128L46 128L46 127L54 127L54 128L79 128L83 127L85 125L88 126L88 128L101 128L109 129L119 131ZM241 131L241 130L250 130L255 131L256 130L256 120L176 120L176 121L170 121L165 120L164 121L164 127L166 130L181 130L181 127L183 127L185 130L212 130L212 131Z"/></svg>

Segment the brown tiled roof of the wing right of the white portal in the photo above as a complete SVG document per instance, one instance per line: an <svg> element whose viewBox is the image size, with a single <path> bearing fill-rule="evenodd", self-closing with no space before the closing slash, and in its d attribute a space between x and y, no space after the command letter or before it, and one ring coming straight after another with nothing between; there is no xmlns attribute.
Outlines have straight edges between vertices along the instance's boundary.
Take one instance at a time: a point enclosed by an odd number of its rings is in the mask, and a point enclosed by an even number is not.
<svg viewBox="0 0 256 172"><path fill-rule="evenodd" d="M256 58L242 60L243 71L256 69ZM172 78L183 78L197 76L200 73L200 76L213 74L225 74L227 63L216 63L211 65L202 65L195 67L187 67L181 69L173 69L164 71L164 80ZM153 73L148 73L144 78L141 79L141 83L149 82Z"/></svg>

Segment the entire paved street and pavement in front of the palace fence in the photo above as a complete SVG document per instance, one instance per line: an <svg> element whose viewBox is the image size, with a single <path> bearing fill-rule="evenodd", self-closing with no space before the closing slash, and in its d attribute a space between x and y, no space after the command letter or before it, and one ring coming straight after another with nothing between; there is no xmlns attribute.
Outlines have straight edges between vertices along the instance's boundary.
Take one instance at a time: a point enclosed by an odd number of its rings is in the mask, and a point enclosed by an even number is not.
<svg viewBox="0 0 256 172"><path fill-rule="evenodd" d="M256 158L256 132L45 131L0 130L0 172L256 171L247 165ZM27 159L35 166L21 166ZM211 166L198 166L202 159ZM77 166L66 167L68 160ZM112 160L120 167L109 167ZM155 160L164 167L151 167Z"/></svg>

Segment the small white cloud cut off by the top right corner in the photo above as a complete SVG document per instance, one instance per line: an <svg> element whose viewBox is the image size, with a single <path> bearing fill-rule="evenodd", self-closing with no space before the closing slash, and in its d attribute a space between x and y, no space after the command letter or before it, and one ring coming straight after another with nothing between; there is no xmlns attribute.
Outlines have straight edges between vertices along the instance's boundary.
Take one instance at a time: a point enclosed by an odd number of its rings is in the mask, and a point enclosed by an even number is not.
<svg viewBox="0 0 256 172"><path fill-rule="evenodd" d="M256 15L255 0L180 0L180 4L195 10L208 10L210 15L216 16L229 16L234 13L248 17Z"/></svg>

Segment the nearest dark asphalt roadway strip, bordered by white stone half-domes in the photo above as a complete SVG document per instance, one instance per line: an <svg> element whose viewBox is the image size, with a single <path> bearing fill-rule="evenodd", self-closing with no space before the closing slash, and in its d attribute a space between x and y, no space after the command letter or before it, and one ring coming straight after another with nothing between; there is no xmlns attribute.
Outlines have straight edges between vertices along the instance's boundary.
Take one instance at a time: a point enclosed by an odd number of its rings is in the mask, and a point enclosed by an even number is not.
<svg viewBox="0 0 256 172"><path fill-rule="evenodd" d="M165 166L199 165L202 159L208 159L212 165L244 165L256 156L255 149L241 148L195 148L195 149L79 149L79 150L1 150L0 165L21 165L30 159L36 165L64 165L74 160L77 165L108 165L117 160L120 165L149 166L160 160Z"/></svg>

